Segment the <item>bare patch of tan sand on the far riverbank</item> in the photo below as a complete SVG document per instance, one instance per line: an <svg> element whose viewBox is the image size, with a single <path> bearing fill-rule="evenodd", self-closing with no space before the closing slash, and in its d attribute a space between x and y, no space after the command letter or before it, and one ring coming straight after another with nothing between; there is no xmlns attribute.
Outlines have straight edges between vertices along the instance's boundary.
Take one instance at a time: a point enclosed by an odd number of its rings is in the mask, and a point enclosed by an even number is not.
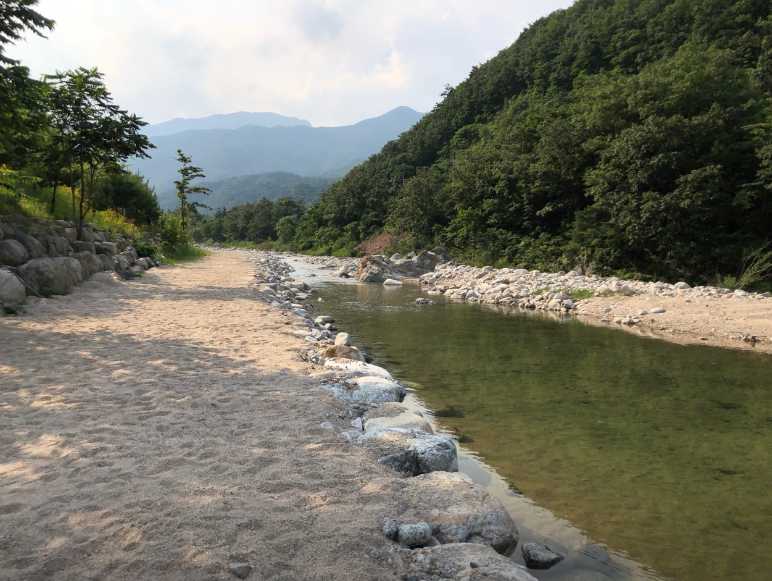
<svg viewBox="0 0 772 581"><path fill-rule="evenodd" d="M638 315L656 307L664 308L665 312L641 315L637 325L613 322L618 317ZM587 323L611 325L674 343L772 354L772 299L595 297L581 301L576 312L579 319ZM751 341L750 337L756 340Z"/></svg>

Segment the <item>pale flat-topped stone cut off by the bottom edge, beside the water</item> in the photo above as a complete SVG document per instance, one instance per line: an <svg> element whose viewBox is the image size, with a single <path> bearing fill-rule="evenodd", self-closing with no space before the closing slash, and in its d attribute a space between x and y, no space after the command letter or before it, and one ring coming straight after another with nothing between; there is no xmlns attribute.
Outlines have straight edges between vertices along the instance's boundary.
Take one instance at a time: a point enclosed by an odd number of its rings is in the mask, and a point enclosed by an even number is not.
<svg viewBox="0 0 772 581"><path fill-rule="evenodd" d="M403 558L404 579L415 581L537 581L522 565L475 543L415 549Z"/></svg>

